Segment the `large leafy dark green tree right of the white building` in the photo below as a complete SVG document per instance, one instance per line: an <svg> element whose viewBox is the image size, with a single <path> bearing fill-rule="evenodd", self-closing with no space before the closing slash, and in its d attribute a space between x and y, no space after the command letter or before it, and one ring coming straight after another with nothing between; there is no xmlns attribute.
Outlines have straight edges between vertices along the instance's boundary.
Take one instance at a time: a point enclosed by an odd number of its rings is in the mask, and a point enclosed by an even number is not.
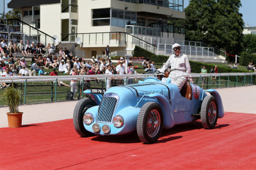
<svg viewBox="0 0 256 170"><path fill-rule="evenodd" d="M191 0L185 8L186 40L240 53L244 22L239 7L240 0Z"/></svg>

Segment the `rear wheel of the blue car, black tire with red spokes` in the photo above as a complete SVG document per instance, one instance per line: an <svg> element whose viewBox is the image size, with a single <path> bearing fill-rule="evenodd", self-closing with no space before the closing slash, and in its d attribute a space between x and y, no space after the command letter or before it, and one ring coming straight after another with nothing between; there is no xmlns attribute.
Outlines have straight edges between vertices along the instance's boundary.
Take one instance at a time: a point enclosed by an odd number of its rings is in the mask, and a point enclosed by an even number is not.
<svg viewBox="0 0 256 170"><path fill-rule="evenodd" d="M213 129L218 120L218 104L213 96L206 96L201 106L200 117L205 129Z"/></svg>

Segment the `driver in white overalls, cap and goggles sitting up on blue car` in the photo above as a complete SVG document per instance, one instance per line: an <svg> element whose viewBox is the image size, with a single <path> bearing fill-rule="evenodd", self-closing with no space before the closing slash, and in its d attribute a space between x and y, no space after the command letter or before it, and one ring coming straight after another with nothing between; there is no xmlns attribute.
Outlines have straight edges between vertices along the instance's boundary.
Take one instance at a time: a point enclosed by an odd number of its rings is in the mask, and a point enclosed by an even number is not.
<svg viewBox="0 0 256 170"><path fill-rule="evenodd" d="M191 68L188 56L180 52L180 45L175 43L172 45L175 54L170 55L169 59L163 65L160 72L164 73L171 66L171 73L169 78L171 82L180 89L182 89L186 80L191 80Z"/></svg>

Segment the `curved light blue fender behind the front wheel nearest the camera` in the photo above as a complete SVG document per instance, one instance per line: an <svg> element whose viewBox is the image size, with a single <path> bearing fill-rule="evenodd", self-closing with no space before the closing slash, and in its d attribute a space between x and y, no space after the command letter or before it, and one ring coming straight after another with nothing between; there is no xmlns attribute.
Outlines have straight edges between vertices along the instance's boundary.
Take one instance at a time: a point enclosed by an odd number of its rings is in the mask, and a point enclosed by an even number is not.
<svg viewBox="0 0 256 170"><path fill-rule="evenodd" d="M163 95L159 93L149 94L148 97L154 97L157 99L159 106L161 106L161 110L163 111L163 117L164 117L164 128L170 129L175 125L175 121L172 114L172 106L164 97Z"/></svg>

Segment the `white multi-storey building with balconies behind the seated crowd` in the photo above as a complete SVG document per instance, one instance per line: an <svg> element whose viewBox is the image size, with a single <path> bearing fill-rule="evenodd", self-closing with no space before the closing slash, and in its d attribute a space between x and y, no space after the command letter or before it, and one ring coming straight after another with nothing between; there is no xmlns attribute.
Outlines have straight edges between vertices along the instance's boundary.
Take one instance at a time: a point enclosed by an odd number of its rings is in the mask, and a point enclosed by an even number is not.
<svg viewBox="0 0 256 170"><path fill-rule="evenodd" d="M111 52L135 45L153 50L150 44L185 39L184 24L173 24L185 19L183 0L12 0L8 8L61 43L80 40L88 57L101 55L107 44Z"/></svg>

